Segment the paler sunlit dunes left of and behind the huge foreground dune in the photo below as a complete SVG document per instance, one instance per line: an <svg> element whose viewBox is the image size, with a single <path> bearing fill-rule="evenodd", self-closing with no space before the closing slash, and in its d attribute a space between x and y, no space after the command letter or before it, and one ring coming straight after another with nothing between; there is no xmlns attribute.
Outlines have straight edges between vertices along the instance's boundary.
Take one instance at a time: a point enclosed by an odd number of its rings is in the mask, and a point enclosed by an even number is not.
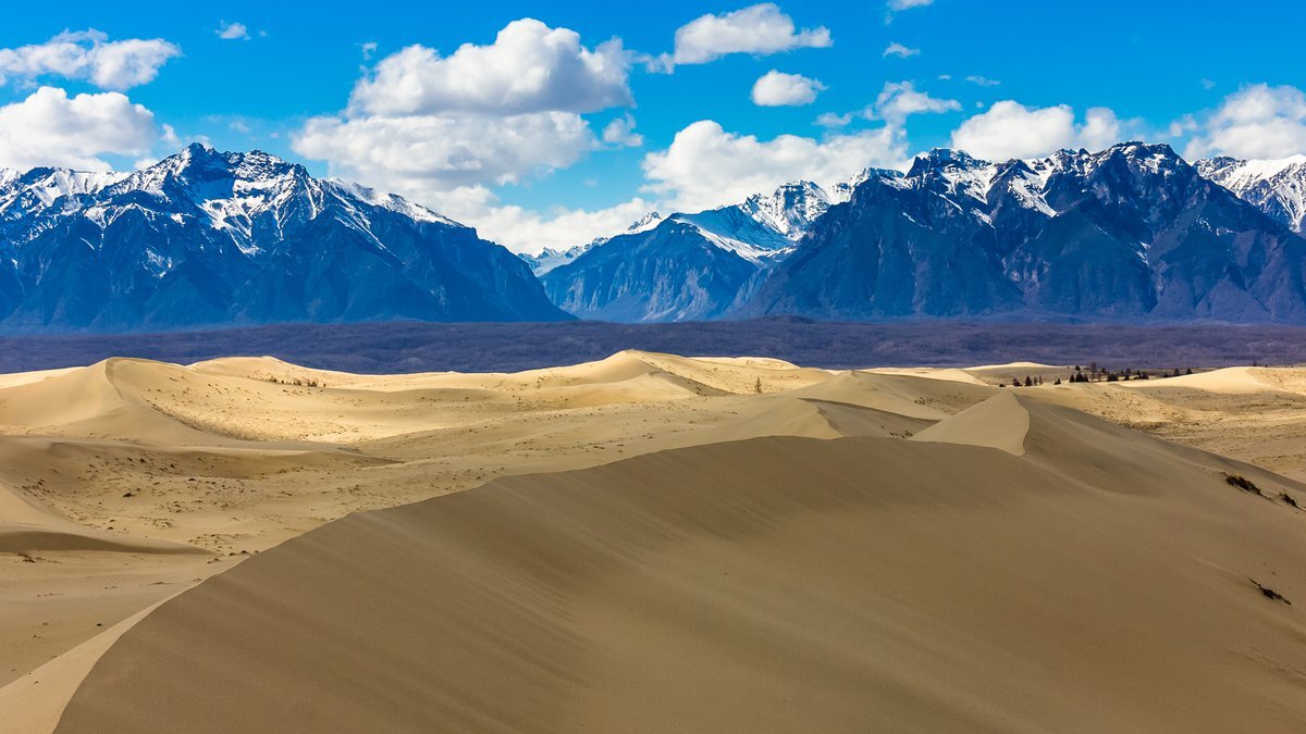
<svg viewBox="0 0 1306 734"><path fill-rule="evenodd" d="M789 397L837 376L643 351L521 374L232 358L0 376L0 576L16 581L0 584L0 684L158 601L153 584L175 593L178 577L350 512L726 439L927 424L863 409L871 380L833 400Z"/></svg>

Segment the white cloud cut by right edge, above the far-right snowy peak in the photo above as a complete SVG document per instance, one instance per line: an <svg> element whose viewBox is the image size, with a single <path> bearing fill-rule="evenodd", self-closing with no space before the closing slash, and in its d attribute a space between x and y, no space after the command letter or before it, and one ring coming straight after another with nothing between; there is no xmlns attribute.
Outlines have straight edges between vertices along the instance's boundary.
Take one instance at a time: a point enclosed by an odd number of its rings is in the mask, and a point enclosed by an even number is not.
<svg viewBox="0 0 1306 734"><path fill-rule="evenodd" d="M1296 86L1245 86L1224 98L1185 149L1208 155L1285 158L1306 153L1306 94Z"/></svg>

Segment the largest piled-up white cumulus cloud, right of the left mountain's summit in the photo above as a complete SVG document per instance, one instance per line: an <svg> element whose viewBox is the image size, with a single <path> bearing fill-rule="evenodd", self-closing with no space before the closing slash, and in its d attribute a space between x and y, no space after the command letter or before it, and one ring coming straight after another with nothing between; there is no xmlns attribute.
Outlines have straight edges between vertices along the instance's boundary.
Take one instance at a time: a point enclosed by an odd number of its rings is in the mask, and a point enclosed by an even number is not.
<svg viewBox="0 0 1306 734"><path fill-rule="evenodd" d="M363 46L364 55L375 50ZM643 145L631 115L610 121L602 142L581 118L633 104L629 64L619 39L589 48L576 31L530 18L448 56L410 46L367 71L343 112L310 119L291 146L332 175L400 193L518 249L577 244L626 212L535 214L500 206L492 187L571 166L603 145Z"/></svg>

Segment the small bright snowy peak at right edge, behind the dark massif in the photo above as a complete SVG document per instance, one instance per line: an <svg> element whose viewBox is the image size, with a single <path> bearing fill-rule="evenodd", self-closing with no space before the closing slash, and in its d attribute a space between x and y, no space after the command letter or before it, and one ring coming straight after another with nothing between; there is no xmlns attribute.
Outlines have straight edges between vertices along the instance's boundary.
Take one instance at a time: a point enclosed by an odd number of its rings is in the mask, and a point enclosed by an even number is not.
<svg viewBox="0 0 1306 734"><path fill-rule="evenodd" d="M1211 158L1194 166L1203 176L1302 234L1306 225L1306 155L1277 161Z"/></svg>

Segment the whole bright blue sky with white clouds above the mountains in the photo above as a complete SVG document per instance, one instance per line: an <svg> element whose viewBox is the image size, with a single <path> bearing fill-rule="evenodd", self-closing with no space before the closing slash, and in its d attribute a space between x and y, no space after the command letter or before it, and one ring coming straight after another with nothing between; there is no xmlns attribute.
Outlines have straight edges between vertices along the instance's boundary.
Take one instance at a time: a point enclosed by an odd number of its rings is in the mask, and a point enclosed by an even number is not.
<svg viewBox="0 0 1306 734"><path fill-rule="evenodd" d="M0 167L259 149L534 252L931 148L1306 153L1298 3L406 5L7 8Z"/></svg>

